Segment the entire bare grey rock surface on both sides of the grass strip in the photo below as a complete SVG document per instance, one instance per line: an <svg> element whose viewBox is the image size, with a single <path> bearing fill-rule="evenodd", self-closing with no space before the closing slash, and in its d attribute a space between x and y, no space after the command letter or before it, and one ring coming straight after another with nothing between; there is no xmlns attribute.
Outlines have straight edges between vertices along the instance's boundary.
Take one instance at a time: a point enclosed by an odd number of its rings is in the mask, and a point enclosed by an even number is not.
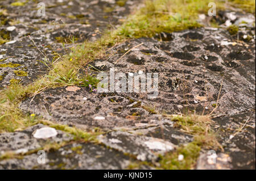
<svg viewBox="0 0 256 181"><path fill-rule="evenodd" d="M2 86L16 78L14 70L28 72L27 77L18 78L23 83L46 71L36 61L42 60L43 55L27 35L52 60L57 53L65 53L60 41L69 48L73 36L76 43L95 40L108 28L109 21L115 26L135 5L134 1L127 1L124 7L114 1L57 2L47 1L43 17L36 16L34 2L26 6L26 10L31 10L26 16L24 6L11 7L11 1L0 2L8 12L15 10L18 14L6 16L7 23L0 28L10 32L10 40L16 40L0 45L0 65L20 64L16 68L0 67ZM224 28L163 32L154 38L129 40L111 49L102 60L92 62L98 70L109 73L110 68L115 68L115 73L125 73L126 77L129 73L158 73L155 99L149 99L148 92L100 93L84 87L76 91L58 87L24 100L20 109L26 113L59 124L88 130L99 127L107 132L98 136L102 145L66 145L47 152L46 164L37 162L36 153L23 159L3 159L0 169L126 169L138 160L154 163L158 154L193 141L191 135L175 128L162 114L191 112L212 113L217 123L214 130L224 146L224 153L216 151L212 157L208 150L203 150L196 169L255 169L255 27L252 22L242 23L237 41L237 36L225 30L226 21L240 26L241 22L251 21L251 16L228 13L216 18ZM21 23L11 24L11 19ZM139 44L142 45L123 56ZM0 153L26 153L41 148L47 140L34 138L32 132L42 127L35 125L22 132L0 134ZM65 133L57 132L48 141L71 140ZM216 164L212 164L212 159L216 159Z"/></svg>

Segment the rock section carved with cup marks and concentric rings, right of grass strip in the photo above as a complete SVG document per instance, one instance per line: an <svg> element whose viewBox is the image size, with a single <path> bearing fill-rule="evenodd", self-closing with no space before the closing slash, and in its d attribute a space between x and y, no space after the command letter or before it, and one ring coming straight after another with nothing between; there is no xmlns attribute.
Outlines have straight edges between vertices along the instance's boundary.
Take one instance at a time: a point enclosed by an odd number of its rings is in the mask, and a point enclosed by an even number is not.
<svg viewBox="0 0 256 181"><path fill-rule="evenodd" d="M166 35L172 37L171 40L141 38L127 41L113 48L108 58L100 61L102 64L96 61L93 65L97 69L103 67L97 65L106 65L105 71L115 68L115 73L126 75L139 71L159 73L159 95L156 99L148 99L147 93L97 93L89 92L86 88L69 92L65 87L60 87L36 95L31 103L31 99L25 100L20 108L59 123L85 125L87 128L122 128L126 131L135 128L138 132L140 129L165 125L165 139L171 144L177 142L172 138L168 140L170 134L175 133L172 123L161 114L152 114L146 106L154 107L154 111L159 113L195 110L207 114L214 110L214 120L219 124L216 131L220 132L220 140L225 145L225 152L230 154L234 169L254 168L255 45L242 41L236 43L222 29L201 28L163 33L162 36ZM124 49L141 43L143 45L115 63L123 55ZM84 100L84 97L87 99ZM217 99L218 107L215 109ZM101 119L96 119L98 117ZM242 125L242 130L238 131ZM130 133L136 135L136 131ZM139 137L123 136L130 133L112 132L103 142L124 153L137 155L140 151L132 148L139 149L139 146L128 145L132 145L133 141L139 144L139 141L135 141ZM120 141L126 144L126 148L121 142L119 144L122 146L109 141L118 140L119 134L125 139ZM151 137L152 134L148 135ZM232 135L235 136L230 141ZM185 139L185 142L189 142L189 139Z"/></svg>

